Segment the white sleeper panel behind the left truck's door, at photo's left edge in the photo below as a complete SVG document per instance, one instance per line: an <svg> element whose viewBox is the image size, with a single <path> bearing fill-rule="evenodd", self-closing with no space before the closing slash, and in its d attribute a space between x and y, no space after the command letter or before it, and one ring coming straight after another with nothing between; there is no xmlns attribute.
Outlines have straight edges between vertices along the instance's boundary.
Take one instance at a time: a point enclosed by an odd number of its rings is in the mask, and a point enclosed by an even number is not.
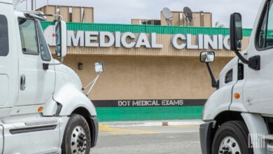
<svg viewBox="0 0 273 154"><path fill-rule="evenodd" d="M18 55L13 5L0 5L0 108L4 108L12 106L18 97Z"/></svg>

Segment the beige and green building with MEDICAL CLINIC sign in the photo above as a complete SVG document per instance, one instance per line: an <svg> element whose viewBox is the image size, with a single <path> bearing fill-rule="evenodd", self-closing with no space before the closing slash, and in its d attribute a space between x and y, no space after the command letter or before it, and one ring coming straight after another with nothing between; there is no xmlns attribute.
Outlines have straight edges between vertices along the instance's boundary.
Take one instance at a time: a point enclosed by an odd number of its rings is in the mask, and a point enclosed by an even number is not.
<svg viewBox="0 0 273 154"><path fill-rule="evenodd" d="M54 23L43 22L51 50ZM113 25L67 22L64 64L78 73L83 86L104 73L89 94L99 120L198 119L215 91L200 52L213 50L216 76L235 54L229 29L164 25ZM251 29L244 29L246 49ZM86 92L86 91L85 91Z"/></svg>

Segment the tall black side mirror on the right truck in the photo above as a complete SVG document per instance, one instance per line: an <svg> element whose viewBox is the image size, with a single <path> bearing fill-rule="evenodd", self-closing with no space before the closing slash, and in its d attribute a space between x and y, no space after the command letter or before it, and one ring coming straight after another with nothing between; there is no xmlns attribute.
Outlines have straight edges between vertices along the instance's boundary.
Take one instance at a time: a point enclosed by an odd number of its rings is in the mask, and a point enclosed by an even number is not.
<svg viewBox="0 0 273 154"><path fill-rule="evenodd" d="M241 14L232 13L230 15L230 50L241 50L242 33Z"/></svg>

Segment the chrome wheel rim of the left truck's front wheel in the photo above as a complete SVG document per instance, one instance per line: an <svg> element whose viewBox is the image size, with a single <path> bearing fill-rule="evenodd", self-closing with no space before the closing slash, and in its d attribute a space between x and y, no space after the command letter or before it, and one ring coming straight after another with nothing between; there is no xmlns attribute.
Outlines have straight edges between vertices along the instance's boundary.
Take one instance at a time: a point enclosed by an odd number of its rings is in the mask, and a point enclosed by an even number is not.
<svg viewBox="0 0 273 154"><path fill-rule="evenodd" d="M71 134L71 152L76 154L83 154L86 150L86 135L83 127L76 126Z"/></svg>

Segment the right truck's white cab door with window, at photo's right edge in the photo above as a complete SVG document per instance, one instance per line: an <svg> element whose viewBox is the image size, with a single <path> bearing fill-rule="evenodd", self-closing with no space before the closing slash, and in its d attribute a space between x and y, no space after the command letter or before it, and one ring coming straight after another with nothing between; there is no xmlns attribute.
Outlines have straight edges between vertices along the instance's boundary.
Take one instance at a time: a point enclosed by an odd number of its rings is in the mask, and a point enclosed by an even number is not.
<svg viewBox="0 0 273 154"><path fill-rule="evenodd" d="M260 70L246 66L244 104L253 113L273 113L273 1L267 1L253 29L247 57L260 55Z"/></svg>

